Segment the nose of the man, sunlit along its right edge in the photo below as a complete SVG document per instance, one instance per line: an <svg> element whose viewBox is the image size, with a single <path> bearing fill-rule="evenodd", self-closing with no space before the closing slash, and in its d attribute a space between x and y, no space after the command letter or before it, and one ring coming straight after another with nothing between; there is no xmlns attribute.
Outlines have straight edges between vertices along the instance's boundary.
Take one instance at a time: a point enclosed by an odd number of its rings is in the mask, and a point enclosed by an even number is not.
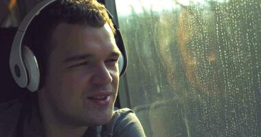
<svg viewBox="0 0 261 137"><path fill-rule="evenodd" d="M91 77L92 84L102 86L110 84L112 80L111 73L104 63L95 67L93 76Z"/></svg>

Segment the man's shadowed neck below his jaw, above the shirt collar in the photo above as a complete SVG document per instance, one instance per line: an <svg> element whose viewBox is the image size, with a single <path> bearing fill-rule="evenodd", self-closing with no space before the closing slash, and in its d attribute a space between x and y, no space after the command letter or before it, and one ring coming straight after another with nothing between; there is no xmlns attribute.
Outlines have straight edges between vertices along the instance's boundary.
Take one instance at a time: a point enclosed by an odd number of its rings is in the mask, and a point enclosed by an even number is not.
<svg viewBox="0 0 261 137"><path fill-rule="evenodd" d="M56 116L49 108L45 99L38 96L38 107L43 124L43 134L45 137L80 137L87 132L88 127L68 123L67 119L62 119L61 116Z"/></svg>

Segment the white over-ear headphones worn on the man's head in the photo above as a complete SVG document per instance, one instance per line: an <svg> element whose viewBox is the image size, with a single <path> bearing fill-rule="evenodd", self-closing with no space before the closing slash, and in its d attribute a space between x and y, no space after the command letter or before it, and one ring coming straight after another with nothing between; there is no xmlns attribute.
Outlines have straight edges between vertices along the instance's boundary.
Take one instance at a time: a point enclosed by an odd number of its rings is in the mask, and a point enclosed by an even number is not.
<svg viewBox="0 0 261 137"><path fill-rule="evenodd" d="M38 90L40 85L40 71L38 68L38 62L34 53L29 49L29 47L22 45L23 37L25 36L25 32L27 27L32 22L34 16L40 14L41 10L45 8L50 3L56 0L45 0L38 3L23 19L19 28L14 36L14 40L12 42L12 48L10 53L10 70L12 73L12 77L16 84L18 84L21 88L27 88L28 90L35 92ZM109 12L108 12L109 14ZM113 17L109 14L111 20ZM120 30L114 24L116 29L115 39L117 46L119 47L122 55L120 55L119 59L119 71L120 75L123 75L126 71L127 66L127 55L124 47L124 42L122 40L122 35L120 34Z"/></svg>

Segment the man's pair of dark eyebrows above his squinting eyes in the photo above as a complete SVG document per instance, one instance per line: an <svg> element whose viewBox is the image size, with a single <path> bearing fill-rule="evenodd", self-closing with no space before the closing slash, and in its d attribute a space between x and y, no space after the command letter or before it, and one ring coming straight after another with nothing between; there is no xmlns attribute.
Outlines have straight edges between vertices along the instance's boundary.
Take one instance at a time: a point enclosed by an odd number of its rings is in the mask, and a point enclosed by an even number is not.
<svg viewBox="0 0 261 137"><path fill-rule="evenodd" d="M122 53L120 51L112 51L109 56L120 56ZM82 55L72 55L71 57L63 60L63 62L76 62L79 60L86 60L87 58L93 58L95 55L93 54L82 54Z"/></svg>

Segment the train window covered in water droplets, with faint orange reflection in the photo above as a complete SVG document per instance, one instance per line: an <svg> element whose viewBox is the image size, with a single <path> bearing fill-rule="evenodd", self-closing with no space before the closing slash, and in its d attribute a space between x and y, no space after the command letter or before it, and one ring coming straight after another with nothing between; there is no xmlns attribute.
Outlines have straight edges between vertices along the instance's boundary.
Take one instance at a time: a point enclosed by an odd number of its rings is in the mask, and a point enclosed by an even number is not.
<svg viewBox="0 0 261 137"><path fill-rule="evenodd" d="M261 136L260 0L115 3L147 136Z"/></svg>

